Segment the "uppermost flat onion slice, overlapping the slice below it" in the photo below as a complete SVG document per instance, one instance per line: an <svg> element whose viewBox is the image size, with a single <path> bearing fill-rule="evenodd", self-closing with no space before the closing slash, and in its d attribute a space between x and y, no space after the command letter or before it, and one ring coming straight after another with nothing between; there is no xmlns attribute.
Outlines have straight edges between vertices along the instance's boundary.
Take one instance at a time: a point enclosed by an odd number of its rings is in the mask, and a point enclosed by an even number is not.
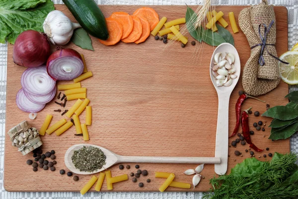
<svg viewBox="0 0 298 199"><path fill-rule="evenodd" d="M28 68L21 77L21 85L27 94L44 96L56 87L56 82L48 75L46 66Z"/></svg>

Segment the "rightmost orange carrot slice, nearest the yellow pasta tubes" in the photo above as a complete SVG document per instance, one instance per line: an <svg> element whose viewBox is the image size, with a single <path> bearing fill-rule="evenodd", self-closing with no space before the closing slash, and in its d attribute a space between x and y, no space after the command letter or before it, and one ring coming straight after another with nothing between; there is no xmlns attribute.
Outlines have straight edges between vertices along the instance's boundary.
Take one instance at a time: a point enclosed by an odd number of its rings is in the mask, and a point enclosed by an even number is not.
<svg viewBox="0 0 298 199"><path fill-rule="evenodd" d="M159 22L157 12L151 7L141 7L134 12L134 15L144 16L150 24L150 31L152 31Z"/></svg>

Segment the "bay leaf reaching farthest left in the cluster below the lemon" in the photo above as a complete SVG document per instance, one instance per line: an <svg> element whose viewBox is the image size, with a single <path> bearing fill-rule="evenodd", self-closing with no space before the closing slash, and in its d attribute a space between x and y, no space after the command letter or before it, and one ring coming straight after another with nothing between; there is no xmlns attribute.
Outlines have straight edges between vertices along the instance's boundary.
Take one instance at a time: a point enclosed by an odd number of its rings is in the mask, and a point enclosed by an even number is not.
<svg viewBox="0 0 298 199"><path fill-rule="evenodd" d="M273 117L280 120L290 120L298 117L298 111L288 106L274 106L264 112L262 116Z"/></svg>

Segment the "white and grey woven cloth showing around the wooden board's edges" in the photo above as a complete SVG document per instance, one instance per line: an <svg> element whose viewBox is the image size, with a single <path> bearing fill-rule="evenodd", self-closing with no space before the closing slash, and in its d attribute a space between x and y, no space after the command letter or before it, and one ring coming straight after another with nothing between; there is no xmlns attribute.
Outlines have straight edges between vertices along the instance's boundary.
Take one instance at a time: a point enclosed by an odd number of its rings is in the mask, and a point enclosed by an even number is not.
<svg viewBox="0 0 298 199"><path fill-rule="evenodd" d="M53 0L62 4L62 0ZM148 5L196 5L199 0L95 0L98 4L148 4ZM216 5L253 5L260 0L213 0ZM284 5L288 8L289 47L298 42L298 0L268 0L270 4ZM98 193L90 192L81 196L75 192L6 192L3 188L4 167L4 136L5 136L5 106L6 106L6 65L7 44L0 44L0 199L200 199L202 193L185 192L126 192ZM290 90L296 90L291 87ZM298 152L298 134L291 138L291 151ZM24 176L23 176L24 177ZM21 177L22 178L22 177ZM21 185L20 185L21 189Z"/></svg>

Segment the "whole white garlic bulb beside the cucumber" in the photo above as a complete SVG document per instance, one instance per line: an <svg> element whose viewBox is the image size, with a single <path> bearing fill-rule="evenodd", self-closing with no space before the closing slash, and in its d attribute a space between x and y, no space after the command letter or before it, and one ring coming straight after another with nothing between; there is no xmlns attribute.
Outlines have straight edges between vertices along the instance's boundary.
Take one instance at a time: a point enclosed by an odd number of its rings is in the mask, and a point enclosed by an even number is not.
<svg viewBox="0 0 298 199"><path fill-rule="evenodd" d="M81 27L78 23L73 23L62 11L51 11L44 23L43 29L53 44L67 44L74 33L75 28Z"/></svg>

